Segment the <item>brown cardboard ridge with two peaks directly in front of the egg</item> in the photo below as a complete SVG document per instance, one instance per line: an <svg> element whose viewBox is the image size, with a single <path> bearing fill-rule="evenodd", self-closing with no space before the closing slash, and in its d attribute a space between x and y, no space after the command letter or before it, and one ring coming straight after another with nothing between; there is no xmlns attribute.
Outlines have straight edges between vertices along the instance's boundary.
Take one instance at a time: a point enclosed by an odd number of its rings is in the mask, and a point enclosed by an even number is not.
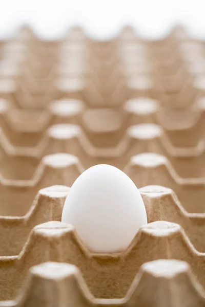
<svg viewBox="0 0 205 307"><path fill-rule="evenodd" d="M193 247L178 224L149 223L139 229L125 252L99 254L91 253L69 224L47 222L34 227L19 255L0 258L4 281L0 283L1 300L15 299L24 288L29 269L47 261L75 265L94 297L123 299L140 267L157 259L186 261L204 289L204 253Z"/></svg>

